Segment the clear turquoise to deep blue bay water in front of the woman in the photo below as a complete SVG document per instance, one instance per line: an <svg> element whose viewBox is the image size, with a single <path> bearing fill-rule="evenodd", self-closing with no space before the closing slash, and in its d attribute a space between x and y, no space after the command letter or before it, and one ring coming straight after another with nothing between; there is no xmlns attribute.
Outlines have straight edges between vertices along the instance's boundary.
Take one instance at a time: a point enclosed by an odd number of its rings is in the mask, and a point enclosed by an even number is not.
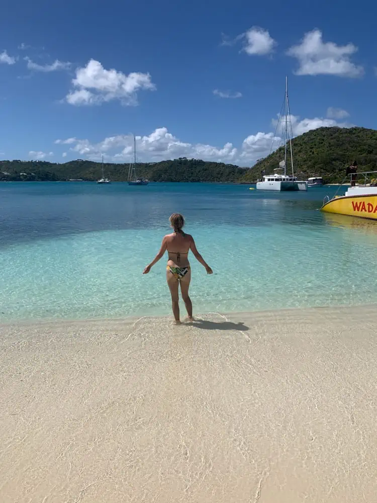
<svg viewBox="0 0 377 503"><path fill-rule="evenodd" d="M163 258L143 268L182 212L214 270L191 257L196 312L377 301L377 225L318 211L324 195L247 185L3 183L2 320L168 314Z"/></svg>

